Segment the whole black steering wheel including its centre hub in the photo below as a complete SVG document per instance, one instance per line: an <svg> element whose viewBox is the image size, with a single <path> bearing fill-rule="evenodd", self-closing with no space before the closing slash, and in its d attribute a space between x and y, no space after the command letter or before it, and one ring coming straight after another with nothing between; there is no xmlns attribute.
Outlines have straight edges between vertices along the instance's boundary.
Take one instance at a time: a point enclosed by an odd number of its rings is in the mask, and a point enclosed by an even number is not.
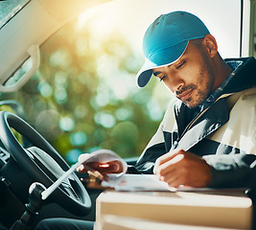
<svg viewBox="0 0 256 230"><path fill-rule="evenodd" d="M11 127L30 141L33 148L24 149L12 133ZM58 151L35 128L11 112L0 112L0 140L19 167L46 188L70 169ZM77 216L84 216L91 210L90 196L75 173L71 173L58 186L58 189L47 198L47 202L56 202Z"/></svg>

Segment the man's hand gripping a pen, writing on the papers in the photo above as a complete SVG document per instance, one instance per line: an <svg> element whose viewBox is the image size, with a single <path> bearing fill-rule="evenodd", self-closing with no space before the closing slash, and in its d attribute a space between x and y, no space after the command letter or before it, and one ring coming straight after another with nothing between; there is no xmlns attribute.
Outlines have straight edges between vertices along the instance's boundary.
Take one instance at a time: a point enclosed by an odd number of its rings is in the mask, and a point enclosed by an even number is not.
<svg viewBox="0 0 256 230"><path fill-rule="evenodd" d="M184 150L174 150L159 157L153 173L171 187L207 187L212 178L211 166L198 155Z"/></svg>

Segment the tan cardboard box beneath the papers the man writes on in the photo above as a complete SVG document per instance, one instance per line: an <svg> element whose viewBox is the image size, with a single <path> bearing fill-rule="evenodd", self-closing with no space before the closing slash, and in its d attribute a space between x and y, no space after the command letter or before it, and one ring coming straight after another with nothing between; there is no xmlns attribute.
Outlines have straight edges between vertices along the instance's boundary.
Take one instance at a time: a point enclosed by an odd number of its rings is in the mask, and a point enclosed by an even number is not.
<svg viewBox="0 0 256 230"><path fill-rule="evenodd" d="M128 222L134 224L127 226ZM137 228L139 223L146 228ZM246 196L193 192L108 191L97 198L96 230L161 229L151 228L152 224L183 225L190 229L251 229L252 202Z"/></svg>

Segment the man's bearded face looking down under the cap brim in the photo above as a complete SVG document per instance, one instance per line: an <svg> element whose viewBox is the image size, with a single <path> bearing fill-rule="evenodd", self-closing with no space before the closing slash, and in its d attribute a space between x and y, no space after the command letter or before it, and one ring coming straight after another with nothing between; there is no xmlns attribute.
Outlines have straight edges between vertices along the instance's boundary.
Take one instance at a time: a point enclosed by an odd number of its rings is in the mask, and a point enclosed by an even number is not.
<svg viewBox="0 0 256 230"><path fill-rule="evenodd" d="M189 42L184 54L172 65L153 69L153 75L188 107L202 104L214 90L214 71L203 47Z"/></svg>

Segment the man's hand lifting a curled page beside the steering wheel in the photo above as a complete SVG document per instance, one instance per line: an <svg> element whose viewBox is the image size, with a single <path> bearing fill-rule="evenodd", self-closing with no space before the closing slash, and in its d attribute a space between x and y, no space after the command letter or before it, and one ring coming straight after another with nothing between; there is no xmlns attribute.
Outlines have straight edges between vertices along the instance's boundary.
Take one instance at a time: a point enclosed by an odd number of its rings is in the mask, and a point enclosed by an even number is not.
<svg viewBox="0 0 256 230"><path fill-rule="evenodd" d="M79 162L83 162L88 157L88 153L81 154L79 157ZM89 162L82 164L78 167L77 171L79 173L86 173L87 171L98 171L102 174L105 173L122 173L123 166L119 161L108 161L108 162Z"/></svg>

